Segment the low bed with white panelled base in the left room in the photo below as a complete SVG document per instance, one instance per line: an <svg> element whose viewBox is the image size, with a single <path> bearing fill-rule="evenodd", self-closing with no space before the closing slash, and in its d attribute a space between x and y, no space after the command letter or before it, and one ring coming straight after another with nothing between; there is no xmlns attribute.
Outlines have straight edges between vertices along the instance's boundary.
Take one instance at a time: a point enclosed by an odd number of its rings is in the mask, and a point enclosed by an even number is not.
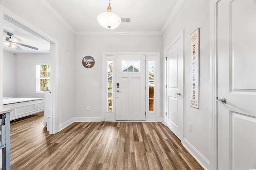
<svg viewBox="0 0 256 170"><path fill-rule="evenodd" d="M44 111L43 98L3 98L3 108L13 109L10 120Z"/></svg>

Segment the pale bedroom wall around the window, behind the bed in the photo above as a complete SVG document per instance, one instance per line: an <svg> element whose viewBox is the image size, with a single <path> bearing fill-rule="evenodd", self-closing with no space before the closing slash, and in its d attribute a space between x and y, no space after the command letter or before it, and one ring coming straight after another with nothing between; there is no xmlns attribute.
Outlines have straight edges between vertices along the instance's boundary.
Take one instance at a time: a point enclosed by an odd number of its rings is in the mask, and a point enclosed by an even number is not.
<svg viewBox="0 0 256 170"><path fill-rule="evenodd" d="M37 64L50 64L50 54L16 54L17 98L44 98L44 92L36 92Z"/></svg>

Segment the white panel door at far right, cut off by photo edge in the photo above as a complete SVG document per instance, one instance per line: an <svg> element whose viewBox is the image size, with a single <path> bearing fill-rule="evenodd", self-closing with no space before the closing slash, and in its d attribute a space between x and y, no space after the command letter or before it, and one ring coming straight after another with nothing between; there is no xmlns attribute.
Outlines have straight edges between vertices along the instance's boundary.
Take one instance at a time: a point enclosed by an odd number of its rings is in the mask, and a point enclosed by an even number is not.
<svg viewBox="0 0 256 170"><path fill-rule="evenodd" d="M256 168L256 0L218 2L218 169Z"/></svg>

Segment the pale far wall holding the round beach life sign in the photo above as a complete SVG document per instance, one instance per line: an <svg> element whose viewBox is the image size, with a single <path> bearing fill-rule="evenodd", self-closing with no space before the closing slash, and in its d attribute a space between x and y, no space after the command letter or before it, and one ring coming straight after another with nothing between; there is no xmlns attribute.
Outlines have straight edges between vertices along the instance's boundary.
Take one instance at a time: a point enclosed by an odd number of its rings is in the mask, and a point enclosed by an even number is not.
<svg viewBox="0 0 256 170"><path fill-rule="evenodd" d="M75 57L75 117L101 117L102 112L102 52L160 52L160 35L79 35L76 36ZM92 68L85 68L82 59L95 59ZM93 86L93 82L100 86ZM90 111L86 110L90 106Z"/></svg>

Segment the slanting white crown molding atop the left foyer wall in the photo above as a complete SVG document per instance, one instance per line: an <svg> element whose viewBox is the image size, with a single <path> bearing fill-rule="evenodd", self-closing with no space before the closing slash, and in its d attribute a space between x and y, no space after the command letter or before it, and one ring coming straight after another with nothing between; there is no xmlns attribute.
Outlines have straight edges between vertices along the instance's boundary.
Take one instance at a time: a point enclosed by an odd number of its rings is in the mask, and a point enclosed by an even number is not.
<svg viewBox="0 0 256 170"><path fill-rule="evenodd" d="M66 26L70 31L75 34L76 30L46 1L38 0L46 10L48 10L55 18L57 18L64 26Z"/></svg>

